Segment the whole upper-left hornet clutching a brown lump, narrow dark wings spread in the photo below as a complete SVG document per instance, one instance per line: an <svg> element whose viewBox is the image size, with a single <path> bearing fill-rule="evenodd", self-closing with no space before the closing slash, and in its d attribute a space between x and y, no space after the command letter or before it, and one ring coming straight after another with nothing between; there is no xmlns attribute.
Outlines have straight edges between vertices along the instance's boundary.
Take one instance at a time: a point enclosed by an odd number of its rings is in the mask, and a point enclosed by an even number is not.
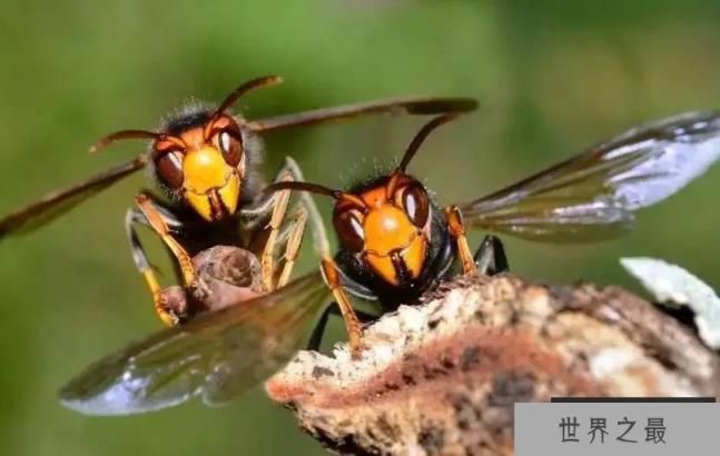
<svg viewBox="0 0 720 456"><path fill-rule="evenodd" d="M126 216L126 230L132 258L142 274L160 319L176 325L191 318L191 313L177 313L162 299L155 270L136 234L138 225L149 226L177 259L178 279L191 288L195 274L190 258L215 245L248 248L260 258L264 289L283 286L290 277L299 249L307 210L300 207L288 226L286 220L289 192L263 196L259 176L262 145L258 135L288 127L319 123L372 113L433 115L473 110L470 98L397 98L317 109L299 113L248 120L233 116L229 109L245 93L282 82L277 76L250 80L234 90L217 107L189 106L170 116L158 131L122 130L98 141L98 151L118 140L150 141L146 153L100 172L67 189L48 194L40 200L0 219L0 238L27 232L80 201L111 186L132 172L149 166L154 180L167 201L148 191L136 197L136 205ZM300 177L297 166L288 159L277 180ZM282 230L283 229L283 230ZM283 267L275 264L274 250L285 245Z"/></svg>

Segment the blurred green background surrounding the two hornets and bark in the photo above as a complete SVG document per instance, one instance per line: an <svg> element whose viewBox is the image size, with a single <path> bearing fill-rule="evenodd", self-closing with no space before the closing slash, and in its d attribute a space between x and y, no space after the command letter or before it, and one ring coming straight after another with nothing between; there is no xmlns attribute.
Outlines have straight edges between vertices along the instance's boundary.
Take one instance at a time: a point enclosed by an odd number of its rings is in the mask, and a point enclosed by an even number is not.
<svg viewBox="0 0 720 456"><path fill-rule="evenodd" d="M266 73L286 83L244 99L249 117L398 95L480 98L481 111L434 133L411 167L443 202L481 196L641 121L720 107L717 1L278 3L3 1L0 212L139 150L88 156L103 133L151 128L190 97L219 100ZM421 122L273 135L267 174L289 153L308 180L341 186L397 158ZM644 210L622 239L506 239L512 267L537 280L639 290L618 259L655 256L720 287L719 178L713 169ZM320 453L262 388L223 408L196 402L127 418L58 405L57 388L90 360L159 328L122 229L144 184L136 176L0 245L0 454ZM306 255L300 268L313 261Z"/></svg>

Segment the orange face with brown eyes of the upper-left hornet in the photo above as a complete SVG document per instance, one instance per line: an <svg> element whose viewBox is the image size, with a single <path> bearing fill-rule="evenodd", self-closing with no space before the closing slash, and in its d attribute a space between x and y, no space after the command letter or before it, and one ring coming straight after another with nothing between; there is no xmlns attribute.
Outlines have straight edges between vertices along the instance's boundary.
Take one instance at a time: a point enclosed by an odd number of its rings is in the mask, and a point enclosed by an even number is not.
<svg viewBox="0 0 720 456"><path fill-rule="evenodd" d="M164 136L154 145L158 177L208 221L233 215L245 161L240 128L229 116Z"/></svg>

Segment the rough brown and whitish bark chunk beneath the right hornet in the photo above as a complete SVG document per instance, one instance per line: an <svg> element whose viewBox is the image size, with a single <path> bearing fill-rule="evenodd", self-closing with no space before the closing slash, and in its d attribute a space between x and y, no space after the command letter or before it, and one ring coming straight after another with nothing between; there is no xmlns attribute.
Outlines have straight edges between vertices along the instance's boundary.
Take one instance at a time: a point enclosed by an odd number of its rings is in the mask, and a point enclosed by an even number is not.
<svg viewBox="0 0 720 456"><path fill-rule="evenodd" d="M353 359L302 351L270 398L341 454L512 454L513 404L717 396L720 358L617 287L464 277L365 329Z"/></svg>

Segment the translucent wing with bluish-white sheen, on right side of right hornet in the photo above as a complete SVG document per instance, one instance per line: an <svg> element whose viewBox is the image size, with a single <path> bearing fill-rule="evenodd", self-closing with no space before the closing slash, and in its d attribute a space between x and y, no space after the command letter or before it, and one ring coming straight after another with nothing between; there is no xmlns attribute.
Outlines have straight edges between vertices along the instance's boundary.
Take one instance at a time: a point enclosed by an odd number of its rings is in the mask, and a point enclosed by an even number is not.
<svg viewBox="0 0 720 456"><path fill-rule="evenodd" d="M553 241L610 237L720 157L720 113L688 112L631 129L475 201L465 225Z"/></svg>

